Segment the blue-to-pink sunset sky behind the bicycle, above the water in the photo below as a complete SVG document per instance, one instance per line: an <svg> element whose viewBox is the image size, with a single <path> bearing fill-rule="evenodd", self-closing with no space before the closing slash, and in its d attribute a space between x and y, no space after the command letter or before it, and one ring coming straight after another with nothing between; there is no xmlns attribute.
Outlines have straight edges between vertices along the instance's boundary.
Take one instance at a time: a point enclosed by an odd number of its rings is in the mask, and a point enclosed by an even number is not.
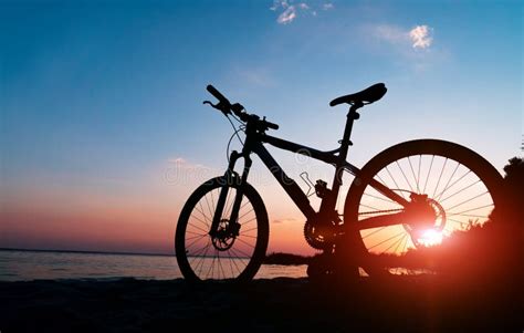
<svg viewBox="0 0 524 333"><path fill-rule="evenodd" d="M233 131L202 105L208 84L280 124L273 135L327 150L346 115L329 101L384 82L353 164L431 137L502 174L522 156L523 13L522 1L0 0L0 248L172 252L184 202L227 166ZM304 170L332 179L270 152L304 190ZM312 253L258 159L250 183L269 251Z"/></svg>

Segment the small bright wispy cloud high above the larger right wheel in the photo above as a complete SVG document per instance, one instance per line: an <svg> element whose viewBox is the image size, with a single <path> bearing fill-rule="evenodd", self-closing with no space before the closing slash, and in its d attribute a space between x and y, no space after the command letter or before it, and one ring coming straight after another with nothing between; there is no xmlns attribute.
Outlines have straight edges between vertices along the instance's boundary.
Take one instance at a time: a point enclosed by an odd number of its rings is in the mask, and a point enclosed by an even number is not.
<svg viewBox="0 0 524 333"><path fill-rule="evenodd" d="M433 43L431 35L433 29L429 25L416 25L411 30L400 28L398 25L380 24L373 29L373 35L388 43L408 46L412 49L428 49Z"/></svg>

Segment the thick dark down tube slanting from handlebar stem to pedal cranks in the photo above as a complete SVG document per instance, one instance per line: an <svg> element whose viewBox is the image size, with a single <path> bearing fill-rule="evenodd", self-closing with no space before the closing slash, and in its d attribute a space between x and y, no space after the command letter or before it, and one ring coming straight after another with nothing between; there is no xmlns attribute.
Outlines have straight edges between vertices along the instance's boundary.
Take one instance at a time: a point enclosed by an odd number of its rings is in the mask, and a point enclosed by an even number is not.
<svg viewBox="0 0 524 333"><path fill-rule="evenodd" d="M287 177L287 175L282 170L280 165L274 160L273 156L271 156L270 152L265 149L262 144L256 145L253 149L256 155L259 155L260 159L265 164L268 169L273 174L280 185L284 188L287 192L290 198L295 202L298 209L304 214L304 216L310 220L314 219L316 212L310 205L310 199L302 191L300 186L295 183L295 180Z"/></svg>

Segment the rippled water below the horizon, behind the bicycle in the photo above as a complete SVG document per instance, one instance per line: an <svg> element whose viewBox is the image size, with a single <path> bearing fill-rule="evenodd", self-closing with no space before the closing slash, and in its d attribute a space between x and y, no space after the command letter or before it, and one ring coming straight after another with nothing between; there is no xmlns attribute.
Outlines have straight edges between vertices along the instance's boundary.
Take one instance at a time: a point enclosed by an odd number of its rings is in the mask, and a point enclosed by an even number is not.
<svg viewBox="0 0 524 333"><path fill-rule="evenodd" d="M255 279L304 278L306 266L263 264ZM40 279L171 280L182 278L175 257L0 250L0 281Z"/></svg>

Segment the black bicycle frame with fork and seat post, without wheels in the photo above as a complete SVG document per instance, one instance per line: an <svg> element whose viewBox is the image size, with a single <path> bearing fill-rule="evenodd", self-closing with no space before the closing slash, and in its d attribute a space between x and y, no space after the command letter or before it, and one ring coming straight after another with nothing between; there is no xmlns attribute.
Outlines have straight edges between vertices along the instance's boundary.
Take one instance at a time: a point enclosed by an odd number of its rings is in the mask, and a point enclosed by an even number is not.
<svg viewBox="0 0 524 333"><path fill-rule="evenodd" d="M346 127L344 131L344 137L340 141L340 147L334 150L328 150L328 152L322 152L312 147L307 147L307 146L295 144L289 141L284 141L282 138L268 135L264 132L261 133L260 131L258 131L258 128L254 128L250 126L250 124L248 124L245 128L245 134L247 134L245 143L244 143L242 153L238 153L237 150L233 150L231 153L228 170L226 171L226 176L228 177L228 179L231 179L231 177L235 175L234 166L237 164L237 160L240 157L243 157L244 168L243 168L240 181L241 181L241 185L245 184L248 181L248 175L252 165L250 155L251 153L255 153L260 157L260 159L262 159L262 162L268 167L268 169L273 174L273 176L276 178L279 184L284 188L284 190L291 197L293 202L304 214L307 220L314 221L318 219L322 220L324 218L331 218L333 212L335 212L336 199L338 197L338 191L340 189L344 170L347 170L349 174L354 175L357 178L361 174L359 168L346 162L348 148L352 145L352 142L349 138L350 138L350 134L353 129L353 124L359 117L356 111L360 106L361 105L353 105L349 108L349 112L347 114ZM311 158L318 159L326 164L331 164L335 166L335 176L333 179L332 188L328 195L322 199L321 209L318 212L316 212L315 209L310 205L310 200L307 196L300 188L300 186L285 174L282 167L276 163L273 156L268 152L268 149L263 145L264 143L268 143L280 149L306 155ZM401 196L399 196L398 194L396 194L395 191L392 191L385 185L380 184L379 181L371 179L369 184L379 192L384 194L389 199L399 202L401 206L406 207L409 204L405 198L402 198ZM232 208L230 221L235 221L238 218L238 211L241 207L240 205L241 205L242 196L243 196L242 186L240 186L237 191L235 199L233 201L233 208ZM222 211L223 211L223 206L226 204L226 197L227 197L227 190L222 190L220 192L219 200L217 202L217 210L214 211L214 216L213 216L213 220L211 225L211 230L210 230L211 236L213 236L213 232L218 229L220 217L222 216ZM374 218L370 218L370 219L374 219ZM361 225L366 226L365 228L368 229L368 228L376 228L376 227L396 225L396 223L398 222L391 222L384 219L381 220L376 219L375 222L370 223L368 221L367 223L361 223Z"/></svg>

